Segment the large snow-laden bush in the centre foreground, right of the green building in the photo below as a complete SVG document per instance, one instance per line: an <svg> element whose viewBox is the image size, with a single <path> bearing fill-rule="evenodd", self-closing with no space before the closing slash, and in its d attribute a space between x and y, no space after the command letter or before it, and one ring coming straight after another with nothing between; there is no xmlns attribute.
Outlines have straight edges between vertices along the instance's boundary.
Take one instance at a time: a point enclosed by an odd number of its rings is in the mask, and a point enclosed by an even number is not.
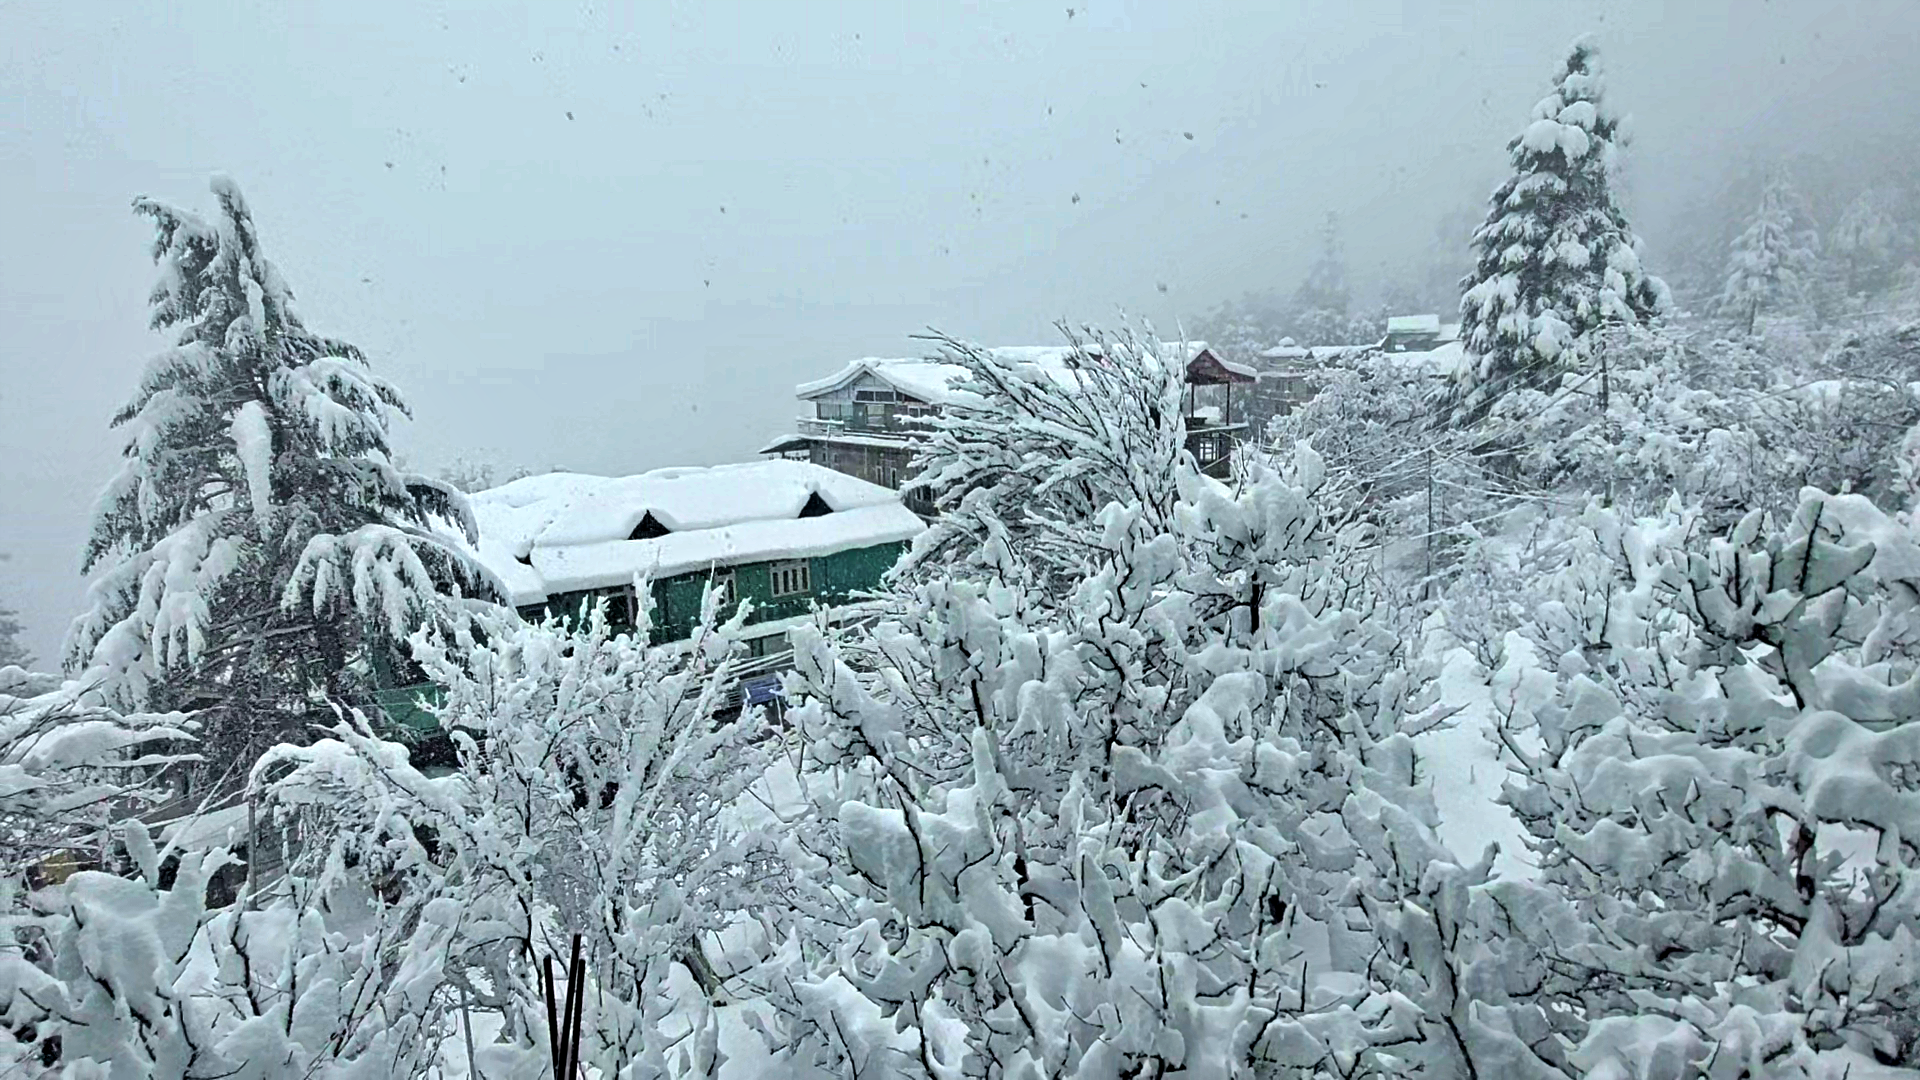
<svg viewBox="0 0 1920 1080"><path fill-rule="evenodd" d="M1106 502L1075 492L1046 523L1071 544L983 530L996 552L902 584L876 626L797 636L787 719L818 813L787 857L810 899L747 976L787 1065L1384 1074L1444 1040L1369 972L1342 813L1423 721L1317 507L1325 465L1302 448L1284 473L1200 477L1162 415L1125 409L1160 404L1164 375L1139 377L1081 394L1071 434L1029 419L1073 398L1037 377L948 421L952 446L983 446L948 482L977 461L975 492L1014 475L1000 490L1052 507L1044 484L1077 463L1050 455L1112 432ZM1016 459L985 452L1031 429Z"/></svg>

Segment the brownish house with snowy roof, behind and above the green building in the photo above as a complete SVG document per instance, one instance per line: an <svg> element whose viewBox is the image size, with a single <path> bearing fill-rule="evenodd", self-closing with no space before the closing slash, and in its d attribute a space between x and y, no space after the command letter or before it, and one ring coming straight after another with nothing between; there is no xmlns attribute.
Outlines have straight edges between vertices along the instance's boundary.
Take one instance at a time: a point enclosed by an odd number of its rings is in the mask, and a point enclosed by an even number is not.
<svg viewBox="0 0 1920 1080"><path fill-rule="evenodd" d="M1173 342L1162 348L1169 359L1181 350ZM1004 346L991 352L1010 363L1033 363L1066 386L1077 384L1068 363L1073 356L1071 346ZM1188 371L1202 357L1219 361L1204 342L1187 344L1185 352ZM1246 369L1248 377L1252 369ZM856 359L835 375L795 386L795 396L812 409L812 415L799 417L799 430L768 442L760 454L806 461L900 490L908 509L931 517L933 492L914 482L914 450L925 436L931 417L973 400L972 394L958 390L966 377L968 369L939 359ZM1198 407L1192 398L1188 404L1190 409ZM1246 425L1240 423L1238 430L1244 432ZM1206 430L1190 427L1187 442L1196 457L1202 452L1210 454L1202 465L1215 465L1225 457L1223 448L1231 444L1227 434L1219 427Z"/></svg>

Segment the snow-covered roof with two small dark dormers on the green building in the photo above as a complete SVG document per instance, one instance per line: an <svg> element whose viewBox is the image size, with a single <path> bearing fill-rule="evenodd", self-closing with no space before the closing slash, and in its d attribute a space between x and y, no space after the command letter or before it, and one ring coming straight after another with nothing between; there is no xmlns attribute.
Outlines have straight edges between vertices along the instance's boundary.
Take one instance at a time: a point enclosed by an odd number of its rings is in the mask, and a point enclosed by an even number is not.
<svg viewBox="0 0 1920 1080"><path fill-rule="evenodd" d="M818 494L833 513L801 517ZM637 477L547 473L468 496L474 555L518 605L553 594L707 567L831 555L910 540L925 525L900 496L806 461L655 469ZM664 536L632 540L645 519Z"/></svg>

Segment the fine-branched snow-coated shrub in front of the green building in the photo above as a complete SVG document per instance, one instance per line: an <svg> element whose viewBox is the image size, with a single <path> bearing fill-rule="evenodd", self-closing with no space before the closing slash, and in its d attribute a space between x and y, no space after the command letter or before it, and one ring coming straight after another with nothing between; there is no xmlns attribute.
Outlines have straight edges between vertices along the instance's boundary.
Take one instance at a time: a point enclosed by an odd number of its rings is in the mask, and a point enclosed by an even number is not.
<svg viewBox="0 0 1920 1080"><path fill-rule="evenodd" d="M382 926L438 926L403 953L419 969L419 1030L449 1032L470 1001L505 1017L480 1049L488 1074L536 1067L547 1053L538 961L582 934L584 1065L716 1067L710 1001L676 1007L668 978L680 965L718 994L708 944L781 892L772 842L722 813L764 767L745 742L753 717L716 717L743 617L722 625L710 596L684 650L649 648L645 628L612 636L605 611L576 634L511 615L420 630L415 657L445 688L449 774L422 774L359 723L261 761L263 778L290 767L269 784L278 817L324 838L298 863L326 882L315 890L380 896Z"/></svg>

